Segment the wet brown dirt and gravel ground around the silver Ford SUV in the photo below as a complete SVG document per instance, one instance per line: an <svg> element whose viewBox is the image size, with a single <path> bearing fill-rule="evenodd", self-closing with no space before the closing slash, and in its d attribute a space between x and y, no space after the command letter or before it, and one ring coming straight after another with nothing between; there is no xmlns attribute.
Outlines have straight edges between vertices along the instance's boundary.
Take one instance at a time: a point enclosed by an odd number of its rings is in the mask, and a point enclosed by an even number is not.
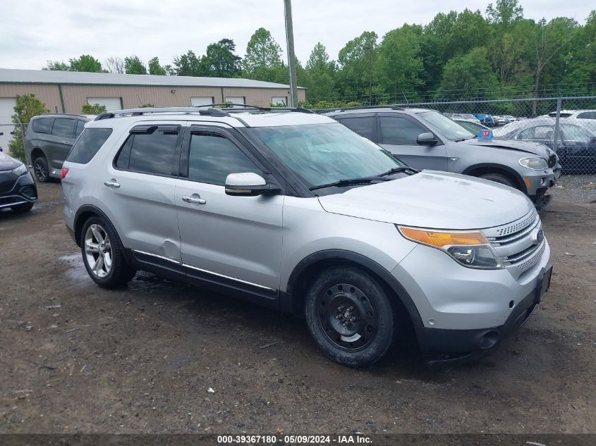
<svg viewBox="0 0 596 446"><path fill-rule="evenodd" d="M0 212L0 433L595 433L596 203L553 192L552 287L517 335L473 366L353 370L290 315L142 273L102 290L41 185Z"/></svg>

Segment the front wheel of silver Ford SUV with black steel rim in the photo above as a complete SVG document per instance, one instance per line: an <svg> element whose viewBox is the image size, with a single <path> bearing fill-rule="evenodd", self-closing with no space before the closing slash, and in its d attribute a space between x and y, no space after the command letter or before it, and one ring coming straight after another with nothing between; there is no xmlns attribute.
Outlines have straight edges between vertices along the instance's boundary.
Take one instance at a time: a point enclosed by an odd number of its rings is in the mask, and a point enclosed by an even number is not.
<svg viewBox="0 0 596 446"><path fill-rule="evenodd" d="M394 341L389 296L360 268L329 268L305 297L308 329L327 356L344 366L364 367L381 359Z"/></svg>

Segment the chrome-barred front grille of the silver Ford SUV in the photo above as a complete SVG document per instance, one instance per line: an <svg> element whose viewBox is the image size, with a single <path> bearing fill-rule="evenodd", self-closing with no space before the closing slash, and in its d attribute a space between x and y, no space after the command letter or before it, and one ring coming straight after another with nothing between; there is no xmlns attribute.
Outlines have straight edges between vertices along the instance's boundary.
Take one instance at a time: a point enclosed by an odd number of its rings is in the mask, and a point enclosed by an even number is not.
<svg viewBox="0 0 596 446"><path fill-rule="evenodd" d="M546 242L541 240L541 231L542 222L535 209L517 221L483 230L494 251L516 278L537 264L545 253Z"/></svg>

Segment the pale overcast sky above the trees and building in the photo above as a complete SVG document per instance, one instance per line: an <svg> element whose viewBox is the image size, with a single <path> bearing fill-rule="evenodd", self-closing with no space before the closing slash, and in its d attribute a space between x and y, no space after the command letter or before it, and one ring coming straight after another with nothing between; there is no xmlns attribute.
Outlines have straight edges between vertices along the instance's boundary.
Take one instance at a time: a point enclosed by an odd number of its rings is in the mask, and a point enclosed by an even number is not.
<svg viewBox="0 0 596 446"><path fill-rule="evenodd" d="M322 42L332 58L348 40L363 31L385 32L403 23L426 24L435 14L464 8L480 9L487 2L472 0L293 0L296 56L301 63ZM592 1L522 0L526 18L566 16L585 23ZM258 27L272 32L286 47L282 0L1 0L0 68L39 69L48 60L91 54L137 54L143 61L159 56L204 54L207 44L228 37L244 55Z"/></svg>

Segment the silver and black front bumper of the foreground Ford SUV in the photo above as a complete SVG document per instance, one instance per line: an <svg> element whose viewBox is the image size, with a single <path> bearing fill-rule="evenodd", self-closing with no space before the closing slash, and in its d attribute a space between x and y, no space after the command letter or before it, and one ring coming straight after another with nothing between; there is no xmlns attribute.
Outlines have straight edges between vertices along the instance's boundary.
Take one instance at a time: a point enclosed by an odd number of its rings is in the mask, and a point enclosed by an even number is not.
<svg viewBox="0 0 596 446"><path fill-rule="evenodd" d="M452 361L496 347L532 313L549 258L545 240L535 264L514 275L507 268L465 268L439 249L415 247L391 273L422 319L415 332L425 359Z"/></svg>

